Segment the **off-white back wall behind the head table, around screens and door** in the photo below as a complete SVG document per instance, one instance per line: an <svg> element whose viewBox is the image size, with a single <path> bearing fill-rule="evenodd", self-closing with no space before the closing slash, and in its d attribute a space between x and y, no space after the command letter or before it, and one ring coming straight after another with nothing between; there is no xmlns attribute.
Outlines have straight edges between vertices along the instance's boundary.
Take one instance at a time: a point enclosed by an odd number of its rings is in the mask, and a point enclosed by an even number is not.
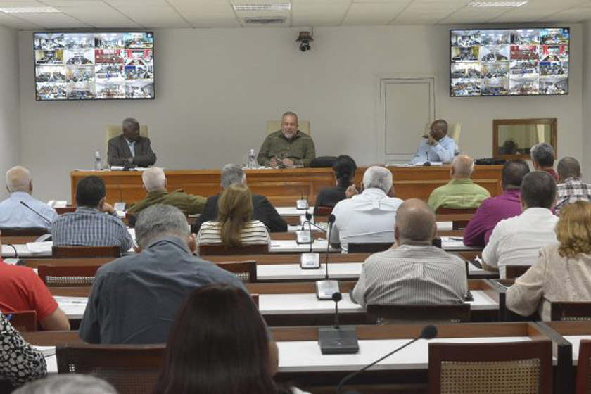
<svg viewBox="0 0 591 394"><path fill-rule="evenodd" d="M149 125L158 165L220 167L260 146L265 122L285 110L310 120L319 155L376 161L376 79L435 75L438 115L462 122L462 149L492 152L492 119L557 117L559 155L582 153L582 26L572 26L571 93L563 97L450 98L448 27L314 29L300 53L298 30L158 30L155 101L34 100L32 33L20 32L23 162L39 196L69 198L68 172L89 168L103 129L123 117ZM51 163L51 164L50 164Z"/></svg>

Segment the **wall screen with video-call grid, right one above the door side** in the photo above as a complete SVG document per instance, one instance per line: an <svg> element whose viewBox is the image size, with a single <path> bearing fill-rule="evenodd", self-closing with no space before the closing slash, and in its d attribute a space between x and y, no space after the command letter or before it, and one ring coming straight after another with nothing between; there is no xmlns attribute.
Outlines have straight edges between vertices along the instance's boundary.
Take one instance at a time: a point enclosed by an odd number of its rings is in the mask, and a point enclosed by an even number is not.
<svg viewBox="0 0 591 394"><path fill-rule="evenodd" d="M451 96L568 94L568 27L452 30Z"/></svg>

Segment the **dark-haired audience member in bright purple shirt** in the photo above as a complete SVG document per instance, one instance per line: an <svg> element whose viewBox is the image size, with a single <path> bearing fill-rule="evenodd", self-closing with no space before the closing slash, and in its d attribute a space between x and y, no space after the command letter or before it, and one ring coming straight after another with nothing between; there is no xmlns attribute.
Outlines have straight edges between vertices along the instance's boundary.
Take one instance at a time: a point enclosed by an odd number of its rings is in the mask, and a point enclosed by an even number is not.
<svg viewBox="0 0 591 394"><path fill-rule="evenodd" d="M464 231L464 245L486 246L498 222L521 215L521 180L528 172L525 160L509 160L504 164L503 193L481 203Z"/></svg>

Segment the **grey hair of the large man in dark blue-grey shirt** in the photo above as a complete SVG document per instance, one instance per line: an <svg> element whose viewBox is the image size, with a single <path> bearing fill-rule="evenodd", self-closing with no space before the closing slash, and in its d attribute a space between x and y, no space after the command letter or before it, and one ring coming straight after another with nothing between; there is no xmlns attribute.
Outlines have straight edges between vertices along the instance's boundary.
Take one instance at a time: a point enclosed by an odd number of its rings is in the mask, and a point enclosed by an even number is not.
<svg viewBox="0 0 591 394"><path fill-rule="evenodd" d="M141 211L136 221L135 233L136 243L145 249L165 236L186 239L189 236L189 224L179 208L155 204Z"/></svg>

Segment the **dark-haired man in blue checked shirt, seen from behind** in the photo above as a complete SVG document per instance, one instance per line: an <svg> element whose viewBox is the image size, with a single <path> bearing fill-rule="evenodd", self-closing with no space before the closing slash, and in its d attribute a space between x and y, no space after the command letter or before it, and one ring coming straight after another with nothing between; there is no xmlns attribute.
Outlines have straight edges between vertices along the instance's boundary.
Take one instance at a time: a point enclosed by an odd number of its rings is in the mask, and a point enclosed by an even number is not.
<svg viewBox="0 0 591 394"><path fill-rule="evenodd" d="M119 246L127 252L134 241L105 196L103 179L91 176L78 182L76 211L61 215L51 227L53 246Z"/></svg>

